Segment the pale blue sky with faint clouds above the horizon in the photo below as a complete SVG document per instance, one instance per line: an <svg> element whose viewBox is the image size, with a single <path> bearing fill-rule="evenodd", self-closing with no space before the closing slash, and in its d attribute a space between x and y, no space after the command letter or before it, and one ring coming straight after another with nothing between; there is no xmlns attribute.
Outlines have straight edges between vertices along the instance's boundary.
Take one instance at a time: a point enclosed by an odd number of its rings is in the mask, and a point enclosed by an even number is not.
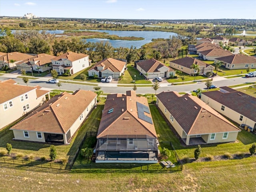
<svg viewBox="0 0 256 192"><path fill-rule="evenodd" d="M256 0L0 0L0 16L256 19Z"/></svg>

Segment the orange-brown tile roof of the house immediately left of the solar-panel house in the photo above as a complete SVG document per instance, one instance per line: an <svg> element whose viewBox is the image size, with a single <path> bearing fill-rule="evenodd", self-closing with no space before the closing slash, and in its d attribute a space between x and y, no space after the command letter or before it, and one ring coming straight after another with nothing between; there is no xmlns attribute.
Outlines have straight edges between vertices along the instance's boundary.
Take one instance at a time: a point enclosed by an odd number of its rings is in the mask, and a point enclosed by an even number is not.
<svg viewBox="0 0 256 192"><path fill-rule="evenodd" d="M12 130L66 133L96 96L96 93L86 90L54 96L13 126Z"/></svg>

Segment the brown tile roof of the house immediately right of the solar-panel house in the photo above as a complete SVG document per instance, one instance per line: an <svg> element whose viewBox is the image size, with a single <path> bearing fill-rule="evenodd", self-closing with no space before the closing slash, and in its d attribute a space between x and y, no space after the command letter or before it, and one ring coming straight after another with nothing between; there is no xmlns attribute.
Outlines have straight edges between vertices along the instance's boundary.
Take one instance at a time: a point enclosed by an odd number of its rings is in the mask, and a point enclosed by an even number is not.
<svg viewBox="0 0 256 192"><path fill-rule="evenodd" d="M181 96L178 92L156 96L188 135L240 131L198 97Z"/></svg>

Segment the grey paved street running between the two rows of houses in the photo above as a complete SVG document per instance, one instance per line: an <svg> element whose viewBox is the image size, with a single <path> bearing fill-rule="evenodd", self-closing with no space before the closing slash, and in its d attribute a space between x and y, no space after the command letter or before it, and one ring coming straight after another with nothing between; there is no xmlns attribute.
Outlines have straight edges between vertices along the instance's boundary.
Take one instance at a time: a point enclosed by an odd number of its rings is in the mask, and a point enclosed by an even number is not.
<svg viewBox="0 0 256 192"><path fill-rule="evenodd" d="M21 85L26 85L21 78L16 78L15 75L12 74L4 74L3 76L0 76L0 80L7 80L12 78L16 82L18 82ZM58 86L56 84L50 84L47 83L49 78L38 78L37 80L29 80L28 85L29 86L41 86L42 88L47 89L58 89ZM252 78L245 78L245 77L237 77L237 78L230 78L226 79L223 77L214 77L213 78L213 84L221 87L221 86L230 86L230 85L236 85L236 84L243 84L246 82L256 82L256 77ZM104 93L122 93L125 94L126 91L132 90L133 87L117 87L117 84L108 84L108 83L99 83L99 86L101 87L101 90ZM62 83L62 86L60 87L61 90L91 90L94 91L94 86L88 86L88 85L80 85L80 84L70 84L70 83ZM190 92L192 90L196 89L206 89L206 86L204 82L198 82L196 84L185 84L185 85L171 85L169 83L161 83L160 82L160 88L157 90L156 93L160 93L163 91L177 91L177 92ZM136 90L137 94L152 94L155 93L155 90L152 87L137 87Z"/></svg>

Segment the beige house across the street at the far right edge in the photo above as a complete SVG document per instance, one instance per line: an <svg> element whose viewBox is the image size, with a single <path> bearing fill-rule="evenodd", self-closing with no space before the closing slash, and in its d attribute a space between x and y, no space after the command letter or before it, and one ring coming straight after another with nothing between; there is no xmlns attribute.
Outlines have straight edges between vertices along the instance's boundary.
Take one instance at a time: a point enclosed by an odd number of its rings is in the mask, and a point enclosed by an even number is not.
<svg viewBox="0 0 256 192"><path fill-rule="evenodd" d="M236 54L215 58L215 62L223 62L223 66L228 69L256 69L256 57Z"/></svg>

